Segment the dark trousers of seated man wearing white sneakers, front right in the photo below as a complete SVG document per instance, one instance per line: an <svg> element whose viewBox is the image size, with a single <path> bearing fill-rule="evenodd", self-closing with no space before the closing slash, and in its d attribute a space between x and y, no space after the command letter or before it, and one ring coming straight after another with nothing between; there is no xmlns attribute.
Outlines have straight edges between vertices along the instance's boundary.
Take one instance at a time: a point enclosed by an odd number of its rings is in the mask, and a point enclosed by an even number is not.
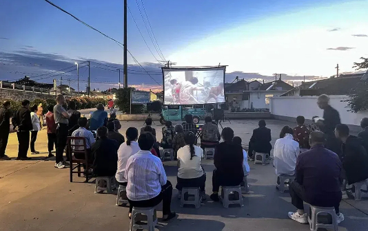
<svg viewBox="0 0 368 231"><path fill-rule="evenodd" d="M292 184L289 184L289 192L290 192L290 196L292 197L293 206L295 206L298 210L304 210L303 201L309 203L309 201L306 201L305 188L302 185L300 185L297 181L292 181ZM338 201L338 202L333 203L336 214L340 212L339 210L340 200L337 199L335 201ZM324 201L324 203L328 203L328 201ZM327 204L323 204L323 205L319 205L315 203L309 203L309 204L311 204L312 206L330 207L330 206L327 206Z"/></svg>

